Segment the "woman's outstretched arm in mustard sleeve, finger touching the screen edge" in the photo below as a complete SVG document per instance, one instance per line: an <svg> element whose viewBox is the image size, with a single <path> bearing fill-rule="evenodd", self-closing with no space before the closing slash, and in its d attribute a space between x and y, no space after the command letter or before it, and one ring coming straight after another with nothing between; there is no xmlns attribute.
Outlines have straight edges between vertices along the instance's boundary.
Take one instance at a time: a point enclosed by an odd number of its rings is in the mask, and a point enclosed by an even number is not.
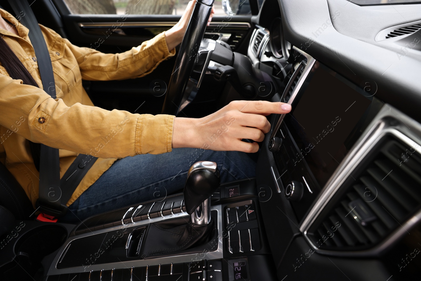
<svg viewBox="0 0 421 281"><path fill-rule="evenodd" d="M172 115L109 111L80 103L69 107L40 88L2 74L0 93L0 112L5 112L1 126L32 142L101 158L165 153L172 147L255 152L256 142L270 128L264 115L291 108L280 102L235 101L204 118L174 120Z"/></svg>

